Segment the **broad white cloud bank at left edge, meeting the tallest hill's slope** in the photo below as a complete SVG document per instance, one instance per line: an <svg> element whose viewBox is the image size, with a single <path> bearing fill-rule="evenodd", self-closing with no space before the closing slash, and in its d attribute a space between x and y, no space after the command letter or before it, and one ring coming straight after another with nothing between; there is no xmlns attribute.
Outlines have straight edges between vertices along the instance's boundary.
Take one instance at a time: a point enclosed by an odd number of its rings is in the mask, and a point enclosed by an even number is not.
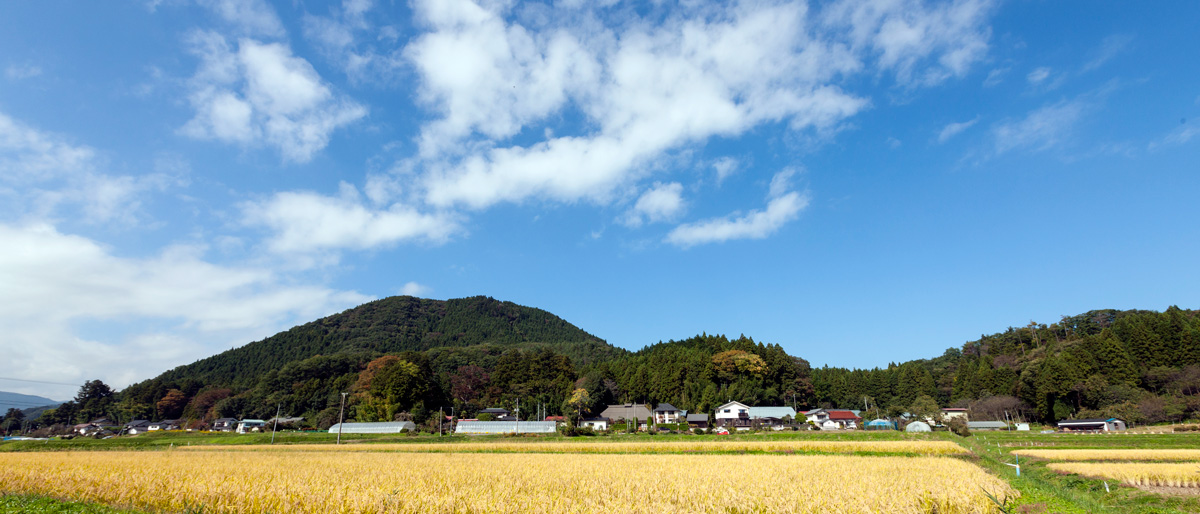
<svg viewBox="0 0 1200 514"><path fill-rule="evenodd" d="M0 223L0 240L8 377L120 388L370 299L212 264L202 249L119 257L46 223Z"/></svg>

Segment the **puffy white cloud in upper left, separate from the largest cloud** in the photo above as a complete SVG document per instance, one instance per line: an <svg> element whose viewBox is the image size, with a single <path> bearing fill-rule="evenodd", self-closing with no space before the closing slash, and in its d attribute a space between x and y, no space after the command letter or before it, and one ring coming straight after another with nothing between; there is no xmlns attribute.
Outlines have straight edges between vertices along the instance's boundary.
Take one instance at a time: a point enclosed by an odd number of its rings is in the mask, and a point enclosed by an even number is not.
<svg viewBox="0 0 1200 514"><path fill-rule="evenodd" d="M191 43L200 67L190 97L196 116L180 128L186 136L265 143L284 160L306 162L334 131L366 115L365 107L335 95L308 61L282 43L244 38L234 50L215 32L197 32Z"/></svg>

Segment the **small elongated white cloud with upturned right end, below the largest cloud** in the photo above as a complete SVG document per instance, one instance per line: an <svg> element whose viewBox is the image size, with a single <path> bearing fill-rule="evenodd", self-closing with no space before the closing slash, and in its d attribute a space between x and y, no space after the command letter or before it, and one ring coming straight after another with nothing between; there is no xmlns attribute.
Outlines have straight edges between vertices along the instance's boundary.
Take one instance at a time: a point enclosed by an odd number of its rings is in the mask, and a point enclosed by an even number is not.
<svg viewBox="0 0 1200 514"><path fill-rule="evenodd" d="M774 234L809 205L808 195L790 191L793 174L791 169L775 174L767 196L767 209L684 223L672 229L665 240L686 249L736 239L764 239Z"/></svg>

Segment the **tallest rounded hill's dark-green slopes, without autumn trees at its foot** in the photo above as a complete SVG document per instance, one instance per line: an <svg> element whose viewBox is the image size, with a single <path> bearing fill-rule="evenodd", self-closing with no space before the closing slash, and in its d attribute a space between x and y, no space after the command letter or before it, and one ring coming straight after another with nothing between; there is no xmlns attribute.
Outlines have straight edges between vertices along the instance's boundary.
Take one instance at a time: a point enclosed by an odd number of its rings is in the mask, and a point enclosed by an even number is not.
<svg viewBox="0 0 1200 514"><path fill-rule="evenodd" d="M514 352L522 357L503 358ZM406 360L416 361L430 376L437 376L437 383L431 386L432 396L426 401L433 405L449 404L436 399L449 394L451 375L467 365L491 372L497 366L512 370L548 363L553 360L551 354L559 355L569 359L566 367L571 370L554 376L552 382L562 389L575 379L575 369L629 352L558 316L511 301L490 297L444 301L391 297L175 367L126 388L121 396L128 399L127 405L136 406L131 416L162 416L174 413L157 406L170 389L181 390L188 399L202 390L227 389L236 398L222 404L221 412L265 416L274 412L278 398L272 395L280 393L287 394L284 404L294 405L294 414L313 414L330 402L336 404L337 392L349 386L340 382L340 377L356 376L367 363L384 354L406 353ZM497 376L509 383L522 378L504 371ZM286 390L295 389L300 382L307 388ZM541 390L547 386L530 387ZM274 404L271 398L276 398Z"/></svg>

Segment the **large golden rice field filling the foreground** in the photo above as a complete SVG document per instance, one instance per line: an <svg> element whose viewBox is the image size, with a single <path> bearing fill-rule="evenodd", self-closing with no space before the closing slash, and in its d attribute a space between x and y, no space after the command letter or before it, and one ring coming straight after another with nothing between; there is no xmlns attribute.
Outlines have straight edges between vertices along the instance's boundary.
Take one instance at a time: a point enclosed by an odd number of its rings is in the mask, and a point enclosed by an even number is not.
<svg viewBox="0 0 1200 514"><path fill-rule="evenodd" d="M992 513L944 456L313 452L0 455L0 492L205 513Z"/></svg>

